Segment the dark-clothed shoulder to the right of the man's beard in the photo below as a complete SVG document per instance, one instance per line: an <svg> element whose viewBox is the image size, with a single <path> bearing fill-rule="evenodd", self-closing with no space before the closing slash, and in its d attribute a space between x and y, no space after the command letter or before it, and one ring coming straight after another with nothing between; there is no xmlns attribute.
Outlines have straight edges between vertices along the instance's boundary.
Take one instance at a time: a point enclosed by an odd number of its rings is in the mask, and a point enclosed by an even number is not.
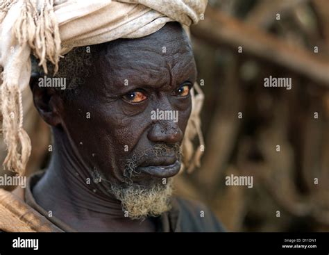
<svg viewBox="0 0 329 255"><path fill-rule="evenodd" d="M205 204L182 197L175 197L179 210L180 231L183 232L222 232L225 231L217 217Z"/></svg>

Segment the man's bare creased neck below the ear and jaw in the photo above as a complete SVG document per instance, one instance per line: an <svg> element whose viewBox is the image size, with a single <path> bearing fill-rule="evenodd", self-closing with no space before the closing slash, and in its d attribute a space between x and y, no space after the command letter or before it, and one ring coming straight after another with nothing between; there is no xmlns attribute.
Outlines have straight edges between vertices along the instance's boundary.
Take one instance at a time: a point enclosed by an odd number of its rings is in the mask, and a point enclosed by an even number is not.
<svg viewBox="0 0 329 255"><path fill-rule="evenodd" d="M33 188L37 204L77 231L155 231L151 220L125 217L106 183L94 183L76 148L65 139L55 140L51 163Z"/></svg>

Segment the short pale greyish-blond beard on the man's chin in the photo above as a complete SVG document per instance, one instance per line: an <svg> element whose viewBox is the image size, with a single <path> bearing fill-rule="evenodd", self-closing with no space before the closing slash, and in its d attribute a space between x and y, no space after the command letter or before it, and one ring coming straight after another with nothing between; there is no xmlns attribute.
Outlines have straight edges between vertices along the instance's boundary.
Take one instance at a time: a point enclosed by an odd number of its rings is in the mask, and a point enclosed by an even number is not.
<svg viewBox="0 0 329 255"><path fill-rule="evenodd" d="M159 216L171 208L172 181L156 183L146 188L133 184L128 188L113 186L112 194L121 201L124 215L132 220L144 220L146 217Z"/></svg>

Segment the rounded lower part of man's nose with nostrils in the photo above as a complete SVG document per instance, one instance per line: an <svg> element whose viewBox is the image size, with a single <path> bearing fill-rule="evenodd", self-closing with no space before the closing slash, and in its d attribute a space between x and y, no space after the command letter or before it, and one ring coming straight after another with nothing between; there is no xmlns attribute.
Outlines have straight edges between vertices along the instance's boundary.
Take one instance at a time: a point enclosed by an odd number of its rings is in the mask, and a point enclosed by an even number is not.
<svg viewBox="0 0 329 255"><path fill-rule="evenodd" d="M157 120L152 124L147 137L152 142L164 142L175 144L183 140L183 132L178 126L178 122L173 120Z"/></svg>

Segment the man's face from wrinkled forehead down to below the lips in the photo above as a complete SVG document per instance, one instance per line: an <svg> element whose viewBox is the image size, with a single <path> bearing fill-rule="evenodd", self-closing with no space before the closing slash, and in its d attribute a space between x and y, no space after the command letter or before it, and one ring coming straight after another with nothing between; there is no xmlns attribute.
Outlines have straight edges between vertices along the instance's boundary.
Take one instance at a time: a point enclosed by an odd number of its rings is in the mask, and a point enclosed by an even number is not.
<svg viewBox="0 0 329 255"><path fill-rule="evenodd" d="M169 23L144 38L93 47L90 54L96 72L61 113L85 165L121 186L153 186L177 174L196 80L183 28Z"/></svg>

